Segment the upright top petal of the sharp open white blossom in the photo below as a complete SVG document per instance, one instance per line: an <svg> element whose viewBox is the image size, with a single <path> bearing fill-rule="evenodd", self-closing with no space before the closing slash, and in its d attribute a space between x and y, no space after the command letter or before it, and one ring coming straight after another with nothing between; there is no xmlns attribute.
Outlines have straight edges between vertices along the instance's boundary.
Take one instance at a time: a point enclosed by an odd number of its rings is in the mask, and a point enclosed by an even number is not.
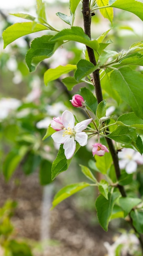
<svg viewBox="0 0 143 256"><path fill-rule="evenodd" d="M75 118L72 112L69 112L68 110L65 110L62 114L62 124L65 128L69 127L74 128Z"/></svg>

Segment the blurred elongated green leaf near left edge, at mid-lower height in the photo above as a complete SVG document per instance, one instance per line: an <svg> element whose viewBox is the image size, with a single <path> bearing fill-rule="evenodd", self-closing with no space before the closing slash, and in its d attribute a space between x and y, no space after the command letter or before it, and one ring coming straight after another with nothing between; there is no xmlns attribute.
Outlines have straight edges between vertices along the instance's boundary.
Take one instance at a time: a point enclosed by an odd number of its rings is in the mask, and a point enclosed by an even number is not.
<svg viewBox="0 0 143 256"><path fill-rule="evenodd" d="M3 174L5 177L6 182L9 181L11 176L13 175L14 171L16 170L17 166L20 164L24 156L28 151L27 146L21 146L21 148L13 148L4 160L3 164Z"/></svg>

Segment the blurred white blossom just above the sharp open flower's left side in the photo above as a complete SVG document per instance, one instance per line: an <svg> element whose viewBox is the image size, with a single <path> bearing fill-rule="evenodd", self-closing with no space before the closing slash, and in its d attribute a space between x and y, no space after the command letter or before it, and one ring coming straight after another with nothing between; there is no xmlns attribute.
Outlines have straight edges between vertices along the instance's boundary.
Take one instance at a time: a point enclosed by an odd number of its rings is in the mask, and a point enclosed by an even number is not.
<svg viewBox="0 0 143 256"><path fill-rule="evenodd" d="M65 105L63 102L54 103L52 105L48 105L46 110L50 116L59 116L61 115L61 112L65 110Z"/></svg>

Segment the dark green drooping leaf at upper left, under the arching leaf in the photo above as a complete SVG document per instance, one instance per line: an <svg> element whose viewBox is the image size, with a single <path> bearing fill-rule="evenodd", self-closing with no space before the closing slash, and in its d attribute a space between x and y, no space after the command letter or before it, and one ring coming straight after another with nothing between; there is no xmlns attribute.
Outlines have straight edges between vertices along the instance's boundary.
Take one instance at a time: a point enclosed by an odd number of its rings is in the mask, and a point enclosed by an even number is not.
<svg viewBox="0 0 143 256"><path fill-rule="evenodd" d="M58 46L63 43L51 43L49 42L50 38L52 38L52 36L41 36L32 41L25 58L30 72L35 71L39 62L43 61L45 58L50 58Z"/></svg>

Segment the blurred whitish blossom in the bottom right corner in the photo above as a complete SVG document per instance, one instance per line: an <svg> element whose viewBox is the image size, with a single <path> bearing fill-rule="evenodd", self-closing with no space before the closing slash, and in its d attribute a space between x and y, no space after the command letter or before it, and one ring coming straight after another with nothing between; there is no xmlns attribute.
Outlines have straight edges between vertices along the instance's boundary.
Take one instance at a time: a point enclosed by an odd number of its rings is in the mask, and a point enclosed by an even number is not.
<svg viewBox="0 0 143 256"><path fill-rule="evenodd" d="M139 249L139 240L134 234L121 234L121 236L119 236L116 239L115 243L113 243L112 245L110 245L108 242L105 242L104 246L107 249L108 256L115 256L116 249L119 245L122 245L122 256L126 256L128 253L134 256L134 252L137 252L137 250Z"/></svg>

